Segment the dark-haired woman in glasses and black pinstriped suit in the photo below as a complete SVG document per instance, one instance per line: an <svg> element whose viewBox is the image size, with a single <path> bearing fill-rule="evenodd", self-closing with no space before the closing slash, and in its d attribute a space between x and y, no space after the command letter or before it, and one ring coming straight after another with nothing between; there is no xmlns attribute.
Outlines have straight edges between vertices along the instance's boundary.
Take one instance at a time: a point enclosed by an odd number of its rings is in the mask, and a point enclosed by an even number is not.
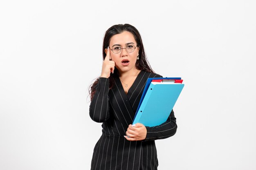
<svg viewBox="0 0 256 170"><path fill-rule="evenodd" d="M155 140L175 134L173 110L165 123L132 127L144 86L154 73L139 31L130 24L111 26L103 40L101 76L91 86L90 117L102 122L91 170L157 170Z"/></svg>

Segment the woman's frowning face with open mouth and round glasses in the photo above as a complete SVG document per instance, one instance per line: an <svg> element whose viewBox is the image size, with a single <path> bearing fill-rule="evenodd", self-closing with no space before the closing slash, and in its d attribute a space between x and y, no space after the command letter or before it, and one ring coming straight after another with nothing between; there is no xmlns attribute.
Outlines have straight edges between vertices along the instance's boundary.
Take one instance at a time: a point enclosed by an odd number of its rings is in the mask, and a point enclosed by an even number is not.
<svg viewBox="0 0 256 170"><path fill-rule="evenodd" d="M132 45L135 47L133 52L127 52L126 49L121 49L119 53L114 53L120 50L120 47L127 48L129 51L132 49ZM113 35L110 39L109 48L111 60L115 62L115 67L119 72L126 72L136 68L135 64L139 55L139 47L137 47L132 33L124 31L120 34ZM105 52L107 52L107 49L105 49Z"/></svg>

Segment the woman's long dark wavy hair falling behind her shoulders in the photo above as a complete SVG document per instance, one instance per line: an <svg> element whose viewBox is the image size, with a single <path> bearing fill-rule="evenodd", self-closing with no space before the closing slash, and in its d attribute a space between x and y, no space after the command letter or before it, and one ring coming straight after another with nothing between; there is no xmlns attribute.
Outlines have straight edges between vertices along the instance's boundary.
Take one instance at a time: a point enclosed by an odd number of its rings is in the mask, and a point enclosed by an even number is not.
<svg viewBox="0 0 256 170"><path fill-rule="evenodd" d="M137 43L137 46L139 46L139 60L137 60L136 62L136 68L138 70L143 70L146 72L150 72L150 73L155 73L153 71L153 69L151 68L150 64L148 63L148 59L146 57L146 53L144 50L144 46L142 43L142 39L141 39L141 35L139 34L139 31L132 25L130 24L117 24L117 25L113 25L111 26L105 33L104 38L103 38L103 46L102 46L102 56L103 56L103 60L106 57L106 53L105 53L105 49L108 48L109 43L110 43L110 39L112 38L113 35L116 34L120 34L124 31L129 31L130 33L132 33L132 35L134 36L134 39ZM114 84L114 77L119 76L119 71L117 70L117 68L115 67L115 71L114 74L110 73L110 85L109 88L111 89L113 84ZM90 86L90 90L89 90L89 94L90 94L90 98L92 101L92 98L96 92L96 86L99 82L99 77L97 78L97 80Z"/></svg>

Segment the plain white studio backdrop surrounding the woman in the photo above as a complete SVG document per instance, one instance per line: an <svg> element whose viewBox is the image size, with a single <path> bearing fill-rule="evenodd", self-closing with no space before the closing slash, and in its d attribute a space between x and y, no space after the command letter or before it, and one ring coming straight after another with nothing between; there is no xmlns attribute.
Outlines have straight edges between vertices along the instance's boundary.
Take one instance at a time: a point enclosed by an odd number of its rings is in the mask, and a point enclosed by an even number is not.
<svg viewBox="0 0 256 170"><path fill-rule="evenodd" d="M101 124L88 88L114 24L141 33L153 70L182 77L159 170L256 169L253 0L0 2L0 170L89 170Z"/></svg>

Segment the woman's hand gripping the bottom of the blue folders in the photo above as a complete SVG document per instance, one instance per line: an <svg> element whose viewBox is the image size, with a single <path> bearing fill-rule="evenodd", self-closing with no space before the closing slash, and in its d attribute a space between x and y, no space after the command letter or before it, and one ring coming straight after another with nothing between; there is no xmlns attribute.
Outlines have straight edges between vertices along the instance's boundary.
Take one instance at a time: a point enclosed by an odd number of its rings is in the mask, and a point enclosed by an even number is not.
<svg viewBox="0 0 256 170"><path fill-rule="evenodd" d="M135 124L132 126L131 124L127 128L126 135L124 136L128 141L142 141L146 139L147 129L143 124Z"/></svg>

